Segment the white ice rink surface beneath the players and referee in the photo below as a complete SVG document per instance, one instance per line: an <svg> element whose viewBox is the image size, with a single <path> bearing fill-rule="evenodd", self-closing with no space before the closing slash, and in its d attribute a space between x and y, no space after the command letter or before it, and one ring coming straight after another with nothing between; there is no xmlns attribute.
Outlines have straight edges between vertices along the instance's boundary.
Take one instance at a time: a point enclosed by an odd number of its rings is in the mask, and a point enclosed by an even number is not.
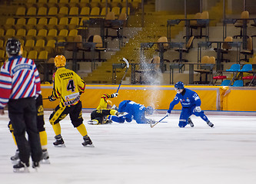
<svg viewBox="0 0 256 184"><path fill-rule="evenodd" d="M154 128L149 124L84 123L95 147L83 147L81 135L62 120L66 147L54 147L54 132L45 112L51 164L35 172L12 171L15 153L8 114L0 116L0 180L13 184L254 184L256 183L256 117L208 115L209 127L192 117L194 127L178 127L178 114ZM161 120L164 114L151 119Z"/></svg>

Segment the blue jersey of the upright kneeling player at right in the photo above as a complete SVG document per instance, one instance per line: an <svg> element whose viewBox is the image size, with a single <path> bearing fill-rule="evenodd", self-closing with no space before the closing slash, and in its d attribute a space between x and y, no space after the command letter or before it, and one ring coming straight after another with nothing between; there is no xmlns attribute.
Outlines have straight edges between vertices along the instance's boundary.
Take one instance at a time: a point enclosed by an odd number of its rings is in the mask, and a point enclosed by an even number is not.
<svg viewBox="0 0 256 184"><path fill-rule="evenodd" d="M181 94L176 94L175 99L172 100L169 106L168 113L171 113L171 110L173 110L175 105L177 105L179 102L181 102L182 108L201 106L201 100L197 93L195 93L193 90L189 90L188 88L185 88L184 90L185 93L182 92Z"/></svg>

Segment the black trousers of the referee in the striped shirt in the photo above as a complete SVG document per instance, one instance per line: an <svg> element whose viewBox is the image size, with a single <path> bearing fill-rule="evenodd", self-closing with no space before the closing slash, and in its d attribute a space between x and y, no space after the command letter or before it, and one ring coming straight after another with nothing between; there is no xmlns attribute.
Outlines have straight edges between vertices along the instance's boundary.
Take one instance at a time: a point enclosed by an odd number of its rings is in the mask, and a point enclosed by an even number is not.
<svg viewBox="0 0 256 184"><path fill-rule="evenodd" d="M8 116L12 122L14 136L19 150L19 158L23 163L29 163L31 154L34 162L39 162L42 148L37 129L35 99L32 97L8 102ZM28 140L25 137L28 134Z"/></svg>

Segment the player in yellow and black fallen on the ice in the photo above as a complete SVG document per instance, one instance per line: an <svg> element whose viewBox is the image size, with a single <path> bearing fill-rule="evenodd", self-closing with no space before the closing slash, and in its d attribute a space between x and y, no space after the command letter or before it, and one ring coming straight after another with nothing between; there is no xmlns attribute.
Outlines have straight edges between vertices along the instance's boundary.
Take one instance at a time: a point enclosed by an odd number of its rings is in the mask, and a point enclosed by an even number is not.
<svg viewBox="0 0 256 184"><path fill-rule="evenodd" d="M91 112L91 120L88 121L88 124L109 124L111 123L111 120L108 119L110 115L114 116L123 116L123 113L119 113L115 109L112 108L112 102L111 100L108 100L108 98L118 97L118 93L115 94L103 94L101 96L100 103L98 104L98 107L96 110L93 110Z"/></svg>

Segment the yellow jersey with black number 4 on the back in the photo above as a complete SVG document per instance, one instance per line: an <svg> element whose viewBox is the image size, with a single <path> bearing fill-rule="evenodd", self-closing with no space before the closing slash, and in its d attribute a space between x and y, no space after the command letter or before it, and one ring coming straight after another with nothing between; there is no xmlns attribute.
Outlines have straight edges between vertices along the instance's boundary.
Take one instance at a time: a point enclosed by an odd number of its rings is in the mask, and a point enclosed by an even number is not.
<svg viewBox="0 0 256 184"><path fill-rule="evenodd" d="M60 98L60 107L78 104L80 94L85 92L85 81L65 67L59 67L53 76L52 96Z"/></svg>

